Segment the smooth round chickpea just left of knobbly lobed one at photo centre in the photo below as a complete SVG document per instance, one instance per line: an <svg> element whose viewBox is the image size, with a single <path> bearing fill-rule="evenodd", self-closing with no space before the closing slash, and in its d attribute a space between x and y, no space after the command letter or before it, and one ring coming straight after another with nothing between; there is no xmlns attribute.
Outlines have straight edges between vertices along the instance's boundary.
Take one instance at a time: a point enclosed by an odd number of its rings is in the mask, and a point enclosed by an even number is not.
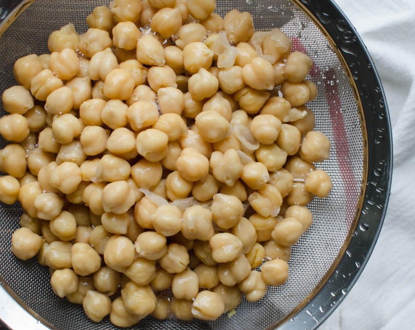
<svg viewBox="0 0 415 330"><path fill-rule="evenodd" d="M195 182L209 173L209 160L194 148L185 148L176 162L177 171L182 178Z"/></svg>

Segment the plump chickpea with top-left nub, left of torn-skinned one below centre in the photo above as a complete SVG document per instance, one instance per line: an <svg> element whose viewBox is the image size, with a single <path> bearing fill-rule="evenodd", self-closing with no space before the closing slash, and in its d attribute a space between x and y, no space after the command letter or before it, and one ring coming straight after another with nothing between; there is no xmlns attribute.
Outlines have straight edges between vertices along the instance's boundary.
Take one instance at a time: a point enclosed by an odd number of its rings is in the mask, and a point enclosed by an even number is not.
<svg viewBox="0 0 415 330"><path fill-rule="evenodd" d="M218 193L213 196L211 210L213 221L219 227L229 229L242 217L244 206L237 197Z"/></svg>

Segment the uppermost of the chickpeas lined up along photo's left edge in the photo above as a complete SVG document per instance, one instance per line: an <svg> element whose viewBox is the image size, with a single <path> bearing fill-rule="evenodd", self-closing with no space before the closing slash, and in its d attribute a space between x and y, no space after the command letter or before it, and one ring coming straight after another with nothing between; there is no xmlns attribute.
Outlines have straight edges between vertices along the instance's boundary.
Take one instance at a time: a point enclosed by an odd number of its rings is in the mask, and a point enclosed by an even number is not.
<svg viewBox="0 0 415 330"><path fill-rule="evenodd" d="M3 108L9 113L24 115L34 107L33 97L23 86L12 86L2 94Z"/></svg>

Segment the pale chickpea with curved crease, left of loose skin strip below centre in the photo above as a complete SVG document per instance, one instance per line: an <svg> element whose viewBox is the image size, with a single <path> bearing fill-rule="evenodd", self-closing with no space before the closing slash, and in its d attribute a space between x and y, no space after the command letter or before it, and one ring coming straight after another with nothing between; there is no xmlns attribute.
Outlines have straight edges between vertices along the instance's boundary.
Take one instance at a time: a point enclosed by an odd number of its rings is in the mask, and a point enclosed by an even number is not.
<svg viewBox="0 0 415 330"><path fill-rule="evenodd" d="M103 189L102 204L105 212L125 213L135 204L135 192L126 181L111 182Z"/></svg>

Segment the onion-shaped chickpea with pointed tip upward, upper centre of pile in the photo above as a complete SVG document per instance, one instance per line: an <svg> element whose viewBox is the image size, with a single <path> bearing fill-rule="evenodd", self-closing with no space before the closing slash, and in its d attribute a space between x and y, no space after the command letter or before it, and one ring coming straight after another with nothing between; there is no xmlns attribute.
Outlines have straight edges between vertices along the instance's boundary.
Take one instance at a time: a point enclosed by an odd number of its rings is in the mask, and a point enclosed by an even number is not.
<svg viewBox="0 0 415 330"><path fill-rule="evenodd" d="M189 78L189 92L195 100L212 97L219 88L219 81L204 68Z"/></svg>

